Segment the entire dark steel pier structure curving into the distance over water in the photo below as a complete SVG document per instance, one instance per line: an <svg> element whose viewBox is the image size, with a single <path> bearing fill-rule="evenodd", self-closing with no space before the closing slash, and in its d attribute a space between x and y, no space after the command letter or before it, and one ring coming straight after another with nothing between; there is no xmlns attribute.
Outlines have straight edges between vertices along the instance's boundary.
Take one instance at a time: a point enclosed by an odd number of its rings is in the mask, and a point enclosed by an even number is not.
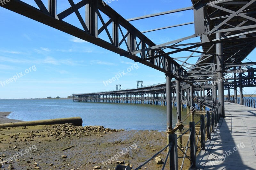
<svg viewBox="0 0 256 170"><path fill-rule="evenodd" d="M101 0L80 0L78 3L67 0L70 7L62 12L57 10L57 3L61 3L63 0L58 0L58 2L57 0L48 0L48 6L45 6L42 0L34 1L36 6L20 0L12 0L0 4L0 6L165 74L166 84L159 84L157 87L74 94L74 100L87 101L89 99L92 101L92 99L100 99L100 101L105 102L109 101L109 97L114 98L115 101L116 98L120 101L123 97L121 102L127 102L131 99L131 101L140 103L146 98L144 101L149 102L150 100L150 103L153 103L152 97L154 99L154 97L166 96L165 99L161 99L162 102L166 101L168 145L165 148L169 147L168 155L170 162L172 162L170 169L178 169L177 148L180 147L180 144L177 144L177 136L173 134L175 132L180 133L184 127L182 122L188 116L191 117L189 125L190 168L196 168L196 146L194 144L196 143L195 126L197 123L193 119L196 112L194 103L197 105L208 104L212 108L212 113L207 113L207 120L204 121L204 114L200 120L201 124L207 123L209 139L211 138L209 134L214 131L213 125L217 126L218 120L225 117L224 89L234 89L234 102L237 103L238 88L239 101L240 104L243 104L243 87L255 86L255 69L253 66L256 62L244 62L244 60L256 47L256 0L192 0L189 7L132 19L124 19ZM80 9L84 9L85 12L79 12ZM188 23L143 32L131 24L131 21L134 20L188 10L194 13L194 21ZM82 29L64 21L71 14L76 15ZM82 15L85 16L85 19ZM103 16L107 16L108 20L104 20ZM157 25L157 23L154 24ZM189 24L194 25L193 34L163 44L155 44L144 34ZM104 38L101 36L103 32L107 34ZM167 31L167 34L169 33ZM199 47L202 47L202 50L199 50ZM191 52L191 54L184 57L173 57L173 54L182 51ZM191 58L197 58L197 61L190 63ZM173 79L175 81L172 81ZM173 89L174 82L175 88ZM173 92L176 93L177 113L180 115L181 101L185 100L184 91L187 94L186 103L190 106L188 115L183 119L179 117L177 124L172 125L172 94ZM200 95L197 93L199 91L201 92ZM200 98L194 100L196 96L200 96ZM159 98L157 102L160 102ZM204 130L204 126L201 126L201 136L203 137L205 135ZM178 138L180 141L180 137ZM205 149L203 138L201 138L201 142L202 149Z"/></svg>

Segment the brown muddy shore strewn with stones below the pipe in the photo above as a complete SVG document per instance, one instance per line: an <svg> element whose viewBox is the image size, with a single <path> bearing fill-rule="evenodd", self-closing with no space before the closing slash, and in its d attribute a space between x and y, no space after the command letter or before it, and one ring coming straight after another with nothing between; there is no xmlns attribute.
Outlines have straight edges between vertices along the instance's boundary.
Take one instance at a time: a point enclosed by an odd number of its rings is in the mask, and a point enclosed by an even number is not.
<svg viewBox="0 0 256 170"><path fill-rule="evenodd" d="M5 121L2 119L5 115L8 112L1 113L1 123L19 121L7 118ZM186 142L184 138L182 143L185 145ZM4 162L2 168L5 169L12 165L16 169L114 170L117 163L136 168L165 145L166 133L158 131L76 127L71 124L0 128L0 161ZM163 161L166 154L164 151L159 155ZM13 157L17 158L10 161ZM182 158L179 151L179 165ZM169 163L166 169L168 166ZM187 160L183 169L189 166ZM157 165L152 159L142 169L162 167L163 164Z"/></svg>

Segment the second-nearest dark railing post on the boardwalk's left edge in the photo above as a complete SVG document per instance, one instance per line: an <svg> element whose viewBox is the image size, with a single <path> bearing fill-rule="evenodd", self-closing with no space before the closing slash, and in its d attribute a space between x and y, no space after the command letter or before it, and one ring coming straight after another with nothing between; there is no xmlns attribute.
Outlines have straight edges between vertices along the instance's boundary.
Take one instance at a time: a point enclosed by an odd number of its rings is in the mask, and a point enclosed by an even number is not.
<svg viewBox="0 0 256 170"><path fill-rule="evenodd" d="M191 168L196 168L196 127L195 122L189 122L190 129L190 165Z"/></svg>

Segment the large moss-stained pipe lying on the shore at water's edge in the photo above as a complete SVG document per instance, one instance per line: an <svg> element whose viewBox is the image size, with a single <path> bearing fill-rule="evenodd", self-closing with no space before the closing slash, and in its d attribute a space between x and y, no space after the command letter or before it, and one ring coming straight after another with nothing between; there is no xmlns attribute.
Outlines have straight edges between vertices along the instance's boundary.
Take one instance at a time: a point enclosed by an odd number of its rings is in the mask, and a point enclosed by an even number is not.
<svg viewBox="0 0 256 170"><path fill-rule="evenodd" d="M0 128L19 127L19 126L36 126L36 125L57 125L57 124L65 124L65 123L72 123L76 126L82 126L83 120L81 117L72 117L72 118L24 121L24 122L0 124Z"/></svg>

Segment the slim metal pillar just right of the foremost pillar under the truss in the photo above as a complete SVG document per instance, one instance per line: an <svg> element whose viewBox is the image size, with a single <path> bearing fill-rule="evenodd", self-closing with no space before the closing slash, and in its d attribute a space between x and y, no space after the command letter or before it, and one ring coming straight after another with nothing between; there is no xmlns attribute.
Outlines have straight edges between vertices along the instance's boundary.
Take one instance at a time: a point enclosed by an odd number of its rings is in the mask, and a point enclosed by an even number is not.
<svg viewBox="0 0 256 170"><path fill-rule="evenodd" d="M176 99L177 99L177 104L176 104L176 109L177 109L177 125L180 124L181 121L181 88L180 88L180 79L176 80ZM179 128L178 132L181 133L181 128ZM182 139L181 137L178 139L178 146L182 147Z"/></svg>

